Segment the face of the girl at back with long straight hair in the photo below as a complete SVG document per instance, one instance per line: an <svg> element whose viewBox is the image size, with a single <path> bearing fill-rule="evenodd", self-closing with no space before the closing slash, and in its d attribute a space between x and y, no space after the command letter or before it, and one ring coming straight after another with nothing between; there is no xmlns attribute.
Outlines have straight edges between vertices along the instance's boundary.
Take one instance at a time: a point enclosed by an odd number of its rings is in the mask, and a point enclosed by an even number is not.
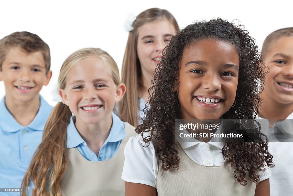
<svg viewBox="0 0 293 196"><path fill-rule="evenodd" d="M153 75L161 60L163 48L168 45L175 33L174 26L167 19L149 22L139 27L137 56L143 75Z"/></svg>

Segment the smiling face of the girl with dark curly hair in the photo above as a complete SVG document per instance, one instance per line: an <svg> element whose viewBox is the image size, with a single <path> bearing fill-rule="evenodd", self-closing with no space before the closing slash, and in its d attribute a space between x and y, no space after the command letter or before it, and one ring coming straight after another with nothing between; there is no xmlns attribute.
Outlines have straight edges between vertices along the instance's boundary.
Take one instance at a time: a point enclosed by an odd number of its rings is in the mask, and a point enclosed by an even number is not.
<svg viewBox="0 0 293 196"><path fill-rule="evenodd" d="M225 41L203 39L183 50L179 63L181 119L220 119L234 103L239 56Z"/></svg>

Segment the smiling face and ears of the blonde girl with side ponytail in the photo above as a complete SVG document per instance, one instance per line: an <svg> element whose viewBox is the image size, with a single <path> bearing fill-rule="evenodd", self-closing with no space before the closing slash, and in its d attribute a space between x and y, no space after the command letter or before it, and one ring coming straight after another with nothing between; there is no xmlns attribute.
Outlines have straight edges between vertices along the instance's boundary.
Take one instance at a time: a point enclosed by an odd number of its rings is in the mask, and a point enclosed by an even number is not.
<svg viewBox="0 0 293 196"><path fill-rule="evenodd" d="M76 116L77 125L111 123L111 112L125 90L115 85L110 68L100 58L76 63L66 76L65 89L59 89L63 103Z"/></svg>

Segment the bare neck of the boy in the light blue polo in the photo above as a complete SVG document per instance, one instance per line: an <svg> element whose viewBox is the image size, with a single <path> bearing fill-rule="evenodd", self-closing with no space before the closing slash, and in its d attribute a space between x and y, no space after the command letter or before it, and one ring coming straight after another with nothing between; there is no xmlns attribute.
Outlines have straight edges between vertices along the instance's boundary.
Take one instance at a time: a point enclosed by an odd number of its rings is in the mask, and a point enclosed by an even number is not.
<svg viewBox="0 0 293 196"><path fill-rule="evenodd" d="M5 105L13 118L22 126L28 126L37 115L40 108L40 96L21 102L10 96L5 97Z"/></svg>

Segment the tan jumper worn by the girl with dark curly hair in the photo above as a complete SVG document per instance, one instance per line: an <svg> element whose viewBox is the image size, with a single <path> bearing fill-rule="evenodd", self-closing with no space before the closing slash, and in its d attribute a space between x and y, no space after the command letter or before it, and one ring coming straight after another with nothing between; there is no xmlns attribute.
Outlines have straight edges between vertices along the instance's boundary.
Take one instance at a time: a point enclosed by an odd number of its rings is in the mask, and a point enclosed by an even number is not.
<svg viewBox="0 0 293 196"><path fill-rule="evenodd" d="M254 195L256 184L248 180L242 186L233 175L234 169L226 162L217 167L200 165L188 157L178 144L180 157L179 169L169 171L162 169L162 161L158 159L156 189L158 196L239 196Z"/></svg>

